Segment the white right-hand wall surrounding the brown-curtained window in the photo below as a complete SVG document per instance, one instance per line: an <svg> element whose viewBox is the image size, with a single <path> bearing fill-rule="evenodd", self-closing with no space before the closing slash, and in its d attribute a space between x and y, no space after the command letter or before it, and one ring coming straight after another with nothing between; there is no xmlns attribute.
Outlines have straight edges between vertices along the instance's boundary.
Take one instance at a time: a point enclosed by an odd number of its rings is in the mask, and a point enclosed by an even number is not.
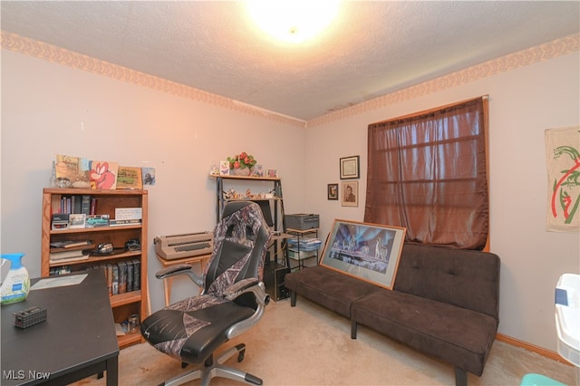
<svg viewBox="0 0 580 386"><path fill-rule="evenodd" d="M514 71L403 101L306 130L306 210L321 216L322 236L334 218L362 221L367 127L375 121L489 95L491 251L502 260L499 333L556 351L554 287L580 273L580 236L546 231L544 131L579 122L580 64L568 54ZM580 147L580 143L578 144ZM359 207L326 199L340 183L339 158L360 155Z"/></svg>

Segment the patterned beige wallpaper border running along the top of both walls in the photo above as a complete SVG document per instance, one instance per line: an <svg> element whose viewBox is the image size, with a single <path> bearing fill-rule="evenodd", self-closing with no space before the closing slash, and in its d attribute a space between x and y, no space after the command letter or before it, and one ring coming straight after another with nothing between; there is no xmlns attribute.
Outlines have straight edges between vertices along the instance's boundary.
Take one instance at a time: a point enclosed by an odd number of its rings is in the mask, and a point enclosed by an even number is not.
<svg viewBox="0 0 580 386"><path fill-rule="evenodd" d="M301 121L275 112L266 111L243 102L234 101L210 92L204 92L193 87L185 86L177 82L171 82L147 73L131 70L120 65L94 59L81 53L74 53L53 44L43 43L18 34L2 31L2 49L24 53L35 58L44 59L52 63L67 65L69 67L107 76L122 82L131 82L136 85L148 87L160 92L167 92L188 98L194 101L202 101L229 110L243 112L253 116L263 117L267 120L286 123L297 127L320 126L333 121L343 120L346 117L384 108L401 101L409 101L440 92L461 84L474 82L479 79L507 72L526 66L528 64L543 62L567 53L580 50L580 34L572 34L555 41L537 45L527 50L511 53L498 59L468 67L449 75L441 76L429 82L422 82L398 92L391 92L370 101L363 101L339 111L333 111L310 121Z"/></svg>

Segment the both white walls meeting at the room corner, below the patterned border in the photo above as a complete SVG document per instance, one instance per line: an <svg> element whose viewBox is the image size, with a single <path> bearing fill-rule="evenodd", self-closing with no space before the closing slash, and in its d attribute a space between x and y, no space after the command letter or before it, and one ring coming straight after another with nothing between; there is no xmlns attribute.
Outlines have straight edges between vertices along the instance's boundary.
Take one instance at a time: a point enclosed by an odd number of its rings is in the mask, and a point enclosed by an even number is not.
<svg viewBox="0 0 580 386"><path fill-rule="evenodd" d="M152 246L157 235L214 226L209 166L247 150L279 170L286 213L320 214L324 238L334 218L363 218L369 123L488 94L499 332L556 350L554 285L580 272L580 237L546 232L544 130L580 121L579 69L576 52L303 130L3 50L0 249L24 252L31 274L40 274L41 193L55 153L156 168ZM352 155L361 156L360 205L341 207L326 199L326 185L340 182L339 158ZM155 310L163 289L152 248L149 264ZM174 298L187 294L179 282Z"/></svg>

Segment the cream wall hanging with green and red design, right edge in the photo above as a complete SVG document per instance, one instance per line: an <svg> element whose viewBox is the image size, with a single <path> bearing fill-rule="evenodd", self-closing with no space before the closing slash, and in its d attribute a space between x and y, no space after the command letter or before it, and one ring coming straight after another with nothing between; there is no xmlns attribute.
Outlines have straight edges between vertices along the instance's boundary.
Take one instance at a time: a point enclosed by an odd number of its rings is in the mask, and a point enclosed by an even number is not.
<svg viewBox="0 0 580 386"><path fill-rule="evenodd" d="M580 126L546 130L546 229L580 230Z"/></svg>

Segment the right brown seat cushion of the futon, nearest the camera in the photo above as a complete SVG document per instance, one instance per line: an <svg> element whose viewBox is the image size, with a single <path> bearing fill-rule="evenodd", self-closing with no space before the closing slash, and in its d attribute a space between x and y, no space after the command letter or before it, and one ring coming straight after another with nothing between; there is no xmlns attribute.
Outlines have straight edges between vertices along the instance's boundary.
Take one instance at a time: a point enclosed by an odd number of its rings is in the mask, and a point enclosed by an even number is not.
<svg viewBox="0 0 580 386"><path fill-rule="evenodd" d="M477 375L498 330L487 314L386 290L354 302L352 319Z"/></svg>

